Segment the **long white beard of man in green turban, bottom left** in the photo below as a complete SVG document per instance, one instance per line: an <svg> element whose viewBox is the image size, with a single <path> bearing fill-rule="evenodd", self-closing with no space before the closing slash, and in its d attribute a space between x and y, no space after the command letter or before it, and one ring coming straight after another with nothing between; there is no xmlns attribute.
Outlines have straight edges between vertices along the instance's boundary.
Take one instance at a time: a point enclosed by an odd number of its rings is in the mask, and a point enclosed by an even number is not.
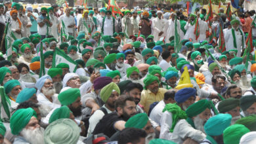
<svg viewBox="0 0 256 144"><path fill-rule="evenodd" d="M31 144L43 144L45 143L43 139L43 133L45 130L43 128L35 128L35 130L30 130L24 128L20 134Z"/></svg>

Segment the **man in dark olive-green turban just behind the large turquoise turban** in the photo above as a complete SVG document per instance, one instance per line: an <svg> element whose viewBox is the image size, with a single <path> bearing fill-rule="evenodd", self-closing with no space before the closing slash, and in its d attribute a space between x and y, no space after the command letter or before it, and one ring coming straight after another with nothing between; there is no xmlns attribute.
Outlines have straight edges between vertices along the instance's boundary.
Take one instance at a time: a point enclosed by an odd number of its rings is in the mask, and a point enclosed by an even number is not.
<svg viewBox="0 0 256 144"><path fill-rule="evenodd" d="M224 99L217 105L219 113L228 113L232 116L231 124L235 124L240 116L240 99L228 98Z"/></svg>

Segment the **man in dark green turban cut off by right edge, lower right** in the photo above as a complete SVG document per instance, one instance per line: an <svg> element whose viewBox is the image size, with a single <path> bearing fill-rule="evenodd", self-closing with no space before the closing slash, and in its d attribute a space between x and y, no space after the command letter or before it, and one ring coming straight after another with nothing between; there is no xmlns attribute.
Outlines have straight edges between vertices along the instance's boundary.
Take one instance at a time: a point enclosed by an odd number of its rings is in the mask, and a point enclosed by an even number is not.
<svg viewBox="0 0 256 144"><path fill-rule="evenodd" d="M240 107L242 116L256 115L256 95L247 95L240 98Z"/></svg>

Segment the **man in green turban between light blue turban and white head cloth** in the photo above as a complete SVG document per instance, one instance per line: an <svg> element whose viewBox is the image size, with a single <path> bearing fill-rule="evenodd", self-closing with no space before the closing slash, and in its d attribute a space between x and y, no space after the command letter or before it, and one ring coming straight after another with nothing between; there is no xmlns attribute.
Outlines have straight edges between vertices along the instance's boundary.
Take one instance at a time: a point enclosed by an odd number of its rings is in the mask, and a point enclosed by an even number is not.
<svg viewBox="0 0 256 144"><path fill-rule="evenodd" d="M62 89L62 69L51 68L47 74L53 79L53 86L56 90L56 94L60 94L60 90Z"/></svg>

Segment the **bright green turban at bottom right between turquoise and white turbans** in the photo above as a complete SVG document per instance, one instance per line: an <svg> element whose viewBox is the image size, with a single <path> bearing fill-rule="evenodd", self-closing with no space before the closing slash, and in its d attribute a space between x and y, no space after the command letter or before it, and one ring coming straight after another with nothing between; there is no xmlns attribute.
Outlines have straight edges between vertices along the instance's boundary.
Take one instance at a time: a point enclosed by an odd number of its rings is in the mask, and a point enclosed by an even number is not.
<svg viewBox="0 0 256 144"><path fill-rule="evenodd" d="M228 126L223 132L223 142L225 144L239 144L241 137L248 132L250 130L242 124Z"/></svg>

